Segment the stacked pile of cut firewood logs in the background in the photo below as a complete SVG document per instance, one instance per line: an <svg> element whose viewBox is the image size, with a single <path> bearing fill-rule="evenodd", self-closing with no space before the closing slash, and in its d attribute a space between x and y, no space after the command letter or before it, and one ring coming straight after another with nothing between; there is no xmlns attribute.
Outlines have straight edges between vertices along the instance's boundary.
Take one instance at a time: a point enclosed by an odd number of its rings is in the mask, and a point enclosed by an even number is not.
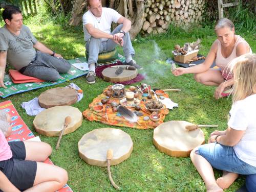
<svg viewBox="0 0 256 192"><path fill-rule="evenodd" d="M169 23L177 25L202 21L205 0L147 0L142 30L148 34L166 32Z"/></svg>

